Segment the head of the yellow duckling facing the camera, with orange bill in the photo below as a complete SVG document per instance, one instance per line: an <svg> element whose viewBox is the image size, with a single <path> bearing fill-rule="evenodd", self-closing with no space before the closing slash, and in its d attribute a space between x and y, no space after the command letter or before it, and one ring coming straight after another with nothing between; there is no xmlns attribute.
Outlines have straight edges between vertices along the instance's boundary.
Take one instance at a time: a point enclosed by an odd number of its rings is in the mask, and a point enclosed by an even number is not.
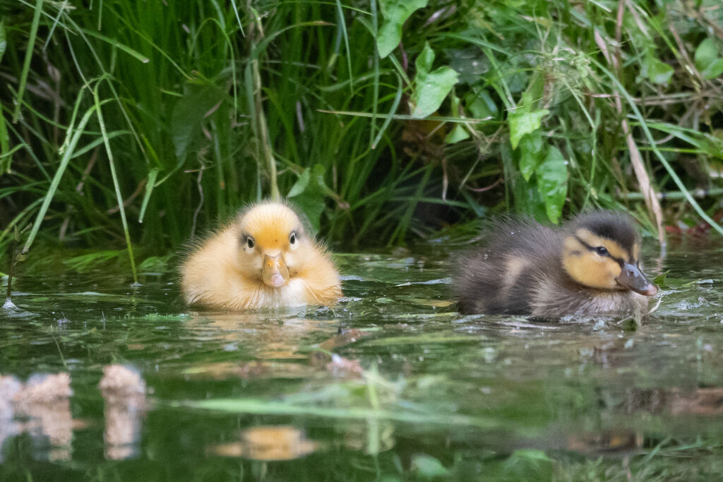
<svg viewBox="0 0 723 482"><path fill-rule="evenodd" d="M299 216L280 202L254 205L238 226L238 270L270 288L286 285L313 249Z"/></svg>

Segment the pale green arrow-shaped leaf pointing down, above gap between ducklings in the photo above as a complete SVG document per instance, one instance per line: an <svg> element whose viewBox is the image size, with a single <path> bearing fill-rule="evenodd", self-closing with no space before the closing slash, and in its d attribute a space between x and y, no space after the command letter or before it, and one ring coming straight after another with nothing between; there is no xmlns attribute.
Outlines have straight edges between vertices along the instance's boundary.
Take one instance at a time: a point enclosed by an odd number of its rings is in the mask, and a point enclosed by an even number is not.
<svg viewBox="0 0 723 482"><path fill-rule="evenodd" d="M427 43L424 45L422 53L419 53L414 61L417 69L416 77L414 77L415 93L413 96L416 108L411 113L414 119L423 119L437 111L457 83L459 77L457 72L448 66L442 66L429 72L434 60L435 52L429 48L429 43Z"/></svg>

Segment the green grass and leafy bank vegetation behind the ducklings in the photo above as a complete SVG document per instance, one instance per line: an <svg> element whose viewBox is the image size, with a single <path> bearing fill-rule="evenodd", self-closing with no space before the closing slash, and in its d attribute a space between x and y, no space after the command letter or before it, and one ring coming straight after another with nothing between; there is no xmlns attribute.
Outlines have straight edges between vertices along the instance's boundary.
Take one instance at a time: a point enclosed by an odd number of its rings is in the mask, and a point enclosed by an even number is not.
<svg viewBox="0 0 723 482"><path fill-rule="evenodd" d="M33 223L25 250L163 252L280 195L346 248L507 210L625 207L654 233L722 207L717 0L0 9L2 246Z"/></svg>

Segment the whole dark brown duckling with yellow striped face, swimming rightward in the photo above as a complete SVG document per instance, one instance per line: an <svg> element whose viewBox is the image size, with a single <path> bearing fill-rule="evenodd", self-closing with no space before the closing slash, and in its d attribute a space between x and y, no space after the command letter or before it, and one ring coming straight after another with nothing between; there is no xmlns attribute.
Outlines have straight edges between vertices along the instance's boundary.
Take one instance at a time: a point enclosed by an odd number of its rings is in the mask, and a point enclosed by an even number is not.
<svg viewBox="0 0 723 482"><path fill-rule="evenodd" d="M557 229L508 218L492 231L486 249L458 262L463 314L643 314L658 292L643 274L628 215L588 212Z"/></svg>

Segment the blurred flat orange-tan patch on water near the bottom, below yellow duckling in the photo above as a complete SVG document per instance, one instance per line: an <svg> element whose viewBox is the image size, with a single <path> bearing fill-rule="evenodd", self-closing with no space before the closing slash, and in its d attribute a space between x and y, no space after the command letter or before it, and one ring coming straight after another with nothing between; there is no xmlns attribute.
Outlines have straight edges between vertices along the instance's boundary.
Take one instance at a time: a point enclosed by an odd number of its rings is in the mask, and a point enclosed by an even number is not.
<svg viewBox="0 0 723 482"><path fill-rule="evenodd" d="M293 426L255 426L241 431L241 440L213 445L208 452L222 457L246 457L253 460L293 460L317 449L317 442Z"/></svg>

